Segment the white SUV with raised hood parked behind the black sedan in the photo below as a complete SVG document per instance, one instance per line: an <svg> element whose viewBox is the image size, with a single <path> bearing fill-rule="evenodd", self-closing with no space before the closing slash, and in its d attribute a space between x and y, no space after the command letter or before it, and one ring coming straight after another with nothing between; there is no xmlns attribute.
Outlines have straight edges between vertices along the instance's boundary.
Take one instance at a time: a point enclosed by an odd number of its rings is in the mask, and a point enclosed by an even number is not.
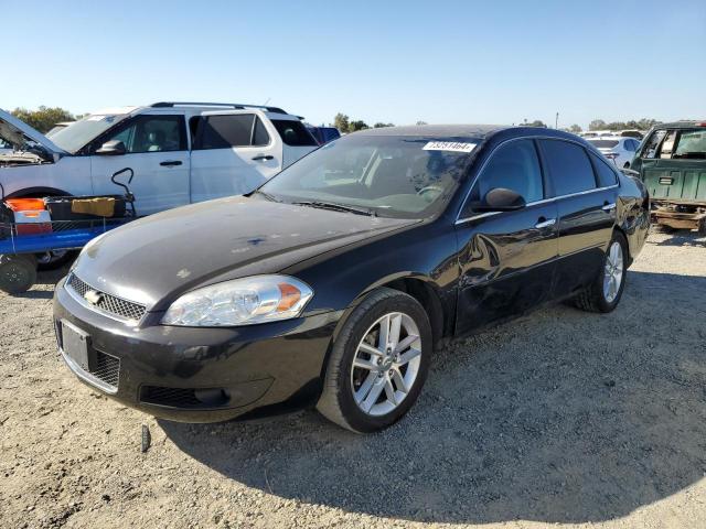
<svg viewBox="0 0 706 529"><path fill-rule="evenodd" d="M249 193L318 147L280 108L201 102L108 108L51 138L0 110L0 139L6 197L119 194L131 168L138 215Z"/></svg>

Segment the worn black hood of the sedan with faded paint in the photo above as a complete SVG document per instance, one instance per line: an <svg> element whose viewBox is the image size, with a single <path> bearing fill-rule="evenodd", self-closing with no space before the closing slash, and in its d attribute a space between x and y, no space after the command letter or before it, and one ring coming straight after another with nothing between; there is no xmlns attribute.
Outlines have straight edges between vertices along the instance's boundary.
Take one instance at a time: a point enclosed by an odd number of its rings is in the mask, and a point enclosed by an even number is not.
<svg viewBox="0 0 706 529"><path fill-rule="evenodd" d="M74 272L94 289L164 310L197 287L276 273L418 220L236 196L135 220L85 249Z"/></svg>

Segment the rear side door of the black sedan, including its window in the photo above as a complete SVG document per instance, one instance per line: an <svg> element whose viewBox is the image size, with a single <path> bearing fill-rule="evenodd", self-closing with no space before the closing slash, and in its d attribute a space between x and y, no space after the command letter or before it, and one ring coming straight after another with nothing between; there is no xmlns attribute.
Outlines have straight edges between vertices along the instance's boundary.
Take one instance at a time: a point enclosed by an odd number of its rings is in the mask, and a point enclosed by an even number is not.
<svg viewBox="0 0 706 529"><path fill-rule="evenodd" d="M554 296L565 296L601 270L616 222L618 180L602 158L589 154L579 143L543 139L539 147L558 209L559 259Z"/></svg>

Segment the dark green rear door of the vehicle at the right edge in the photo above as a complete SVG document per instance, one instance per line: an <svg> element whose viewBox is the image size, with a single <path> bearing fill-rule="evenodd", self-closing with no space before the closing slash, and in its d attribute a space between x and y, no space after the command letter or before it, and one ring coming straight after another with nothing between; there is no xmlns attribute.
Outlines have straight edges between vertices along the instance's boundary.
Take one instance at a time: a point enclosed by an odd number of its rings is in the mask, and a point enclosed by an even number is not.
<svg viewBox="0 0 706 529"><path fill-rule="evenodd" d="M641 155L652 199L706 203L706 128L655 130Z"/></svg>

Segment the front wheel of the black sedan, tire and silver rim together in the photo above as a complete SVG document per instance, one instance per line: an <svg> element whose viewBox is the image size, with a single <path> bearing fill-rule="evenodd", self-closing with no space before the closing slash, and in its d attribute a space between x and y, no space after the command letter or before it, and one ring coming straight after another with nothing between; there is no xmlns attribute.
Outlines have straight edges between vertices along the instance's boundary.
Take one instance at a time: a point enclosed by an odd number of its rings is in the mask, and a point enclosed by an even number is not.
<svg viewBox="0 0 706 529"><path fill-rule="evenodd" d="M417 400L431 350L424 307L403 292L378 289L349 315L335 338L317 408L354 432L383 430Z"/></svg>

